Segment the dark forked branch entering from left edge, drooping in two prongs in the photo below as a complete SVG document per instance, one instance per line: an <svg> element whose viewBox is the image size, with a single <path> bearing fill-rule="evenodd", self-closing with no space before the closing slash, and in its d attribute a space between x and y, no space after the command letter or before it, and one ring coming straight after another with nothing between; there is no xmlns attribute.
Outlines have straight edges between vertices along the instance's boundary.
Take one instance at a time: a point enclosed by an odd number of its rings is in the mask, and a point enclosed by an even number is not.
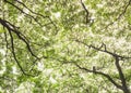
<svg viewBox="0 0 131 93"><path fill-rule="evenodd" d="M8 31L9 31L9 34L10 34L12 54L13 54L13 57L14 57L17 66L20 67L20 69L22 70L22 72L23 72L24 75L28 75L28 74L26 74L26 72L24 71L24 69L22 68L20 62L19 62L17 58L16 58L12 32L14 32L14 34L19 37L19 39L22 40L22 41L26 44L26 46L27 46L29 53L32 54L32 56L34 56L36 59L39 59L39 58L33 53L33 51L32 51L32 49L31 49L31 45L28 44L28 42L26 41L26 39L22 37L22 34L21 34L19 30L16 30L16 27L15 27L14 25L12 25L12 24L9 23L8 21L1 19L1 18L0 18L0 24L1 24L3 27L5 27L5 28L8 29ZM28 75L28 76L31 76L31 75Z"/></svg>

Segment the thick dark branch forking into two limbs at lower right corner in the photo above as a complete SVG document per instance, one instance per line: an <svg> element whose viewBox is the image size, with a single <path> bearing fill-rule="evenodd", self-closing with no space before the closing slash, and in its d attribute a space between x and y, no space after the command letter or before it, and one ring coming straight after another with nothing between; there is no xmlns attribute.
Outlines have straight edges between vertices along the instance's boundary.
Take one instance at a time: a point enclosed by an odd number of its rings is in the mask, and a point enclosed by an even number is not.
<svg viewBox="0 0 131 93"><path fill-rule="evenodd" d="M84 42L82 42L82 41L79 41L79 40L75 40L75 41L79 42L79 43L83 43L84 45L86 45L86 46L88 46L88 48L92 48L92 49L94 49L94 50L96 50L96 51L105 52L105 53L111 55L112 57L115 57L115 61L116 61L116 62L115 62L115 65L116 65L117 70L118 70L118 72L119 72L119 78L120 78L120 80L121 80L121 84L122 84L122 85L119 85L118 83L116 83L115 80L112 80L109 75L106 75L106 74L104 74L104 72L100 72L100 71L97 71L97 70L94 70L94 69L93 69L93 70L90 70L90 69L86 69L86 68L81 67L81 66L79 66L78 64L75 64L80 69L86 70L86 71L88 71L88 72L102 75L102 76L106 77L111 83L114 83L118 89L121 89L124 93L130 93L130 91L129 91L129 89L128 89L128 87L127 87L127 82L126 82L124 75L123 75L123 72L122 72L122 68L121 68L121 66L120 66L120 64L119 64L119 59L123 59L123 58L128 59L128 58L131 58L131 57L121 56L121 55L118 55L118 54L116 54L116 53L112 53L112 52L107 51L106 44L104 44L104 43L100 45L100 48L96 48L96 46L94 46L94 45L92 45L92 44L91 44L91 45L87 45L86 43L84 43ZM103 46L104 46L104 50L102 50Z"/></svg>

